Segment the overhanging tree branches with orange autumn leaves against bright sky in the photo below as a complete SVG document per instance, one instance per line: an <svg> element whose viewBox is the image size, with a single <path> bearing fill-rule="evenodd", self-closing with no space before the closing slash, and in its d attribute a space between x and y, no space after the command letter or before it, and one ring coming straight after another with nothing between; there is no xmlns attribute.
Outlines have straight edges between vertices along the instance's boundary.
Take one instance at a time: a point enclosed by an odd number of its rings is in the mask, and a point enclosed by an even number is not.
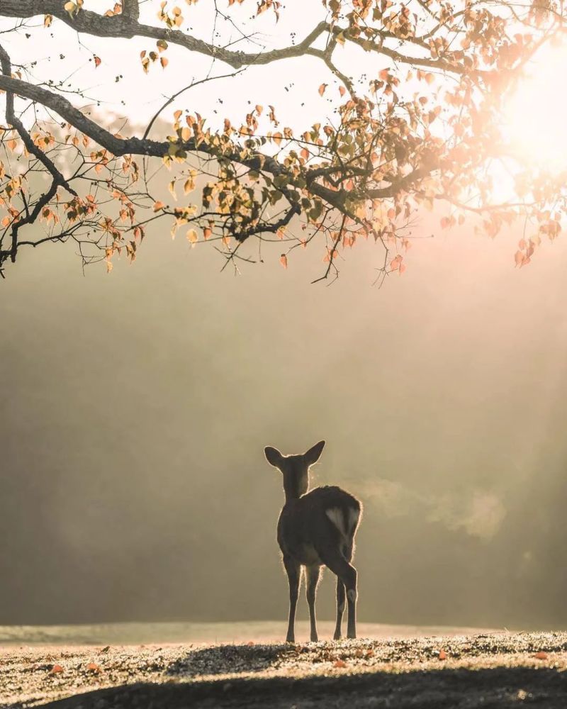
<svg viewBox="0 0 567 709"><path fill-rule="evenodd" d="M471 218L493 236L523 220L518 266L560 232L565 174L522 158L503 111L526 63L561 37L562 4L313 0L308 12L276 0L177 2L1 0L3 276L23 249L69 240L84 264L110 270L117 255L143 251L157 220L191 245L213 242L235 267L268 252L287 267L291 250L309 245L321 279L362 238L381 249L379 278L403 272L412 223L437 201L449 205L441 228ZM286 13L291 37L277 32ZM65 57L71 45L77 65ZM60 63L46 65L48 52ZM96 85L101 65L120 72L127 54L137 74L116 82L156 102L141 128L127 91L117 125ZM191 77L197 57L207 63ZM261 92L242 115L230 97L203 114L186 93L252 69L270 81L283 62L296 84L316 73L309 125L283 123ZM177 88L164 96L166 74ZM171 199L157 196L159 180Z"/></svg>

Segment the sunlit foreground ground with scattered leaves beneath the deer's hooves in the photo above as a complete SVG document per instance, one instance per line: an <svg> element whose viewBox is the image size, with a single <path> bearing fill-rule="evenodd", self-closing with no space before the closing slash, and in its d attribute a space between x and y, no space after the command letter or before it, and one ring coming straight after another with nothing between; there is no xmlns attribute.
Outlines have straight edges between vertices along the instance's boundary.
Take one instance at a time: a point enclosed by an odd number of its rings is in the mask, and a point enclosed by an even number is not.
<svg viewBox="0 0 567 709"><path fill-rule="evenodd" d="M567 707L567 633L4 647L0 708Z"/></svg>

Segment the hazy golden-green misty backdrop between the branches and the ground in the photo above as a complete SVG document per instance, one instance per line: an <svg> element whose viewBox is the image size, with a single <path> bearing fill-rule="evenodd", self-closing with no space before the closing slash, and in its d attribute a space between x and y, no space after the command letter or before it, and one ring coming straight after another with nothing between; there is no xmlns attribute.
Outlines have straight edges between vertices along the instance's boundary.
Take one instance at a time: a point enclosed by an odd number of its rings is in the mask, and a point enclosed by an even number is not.
<svg viewBox="0 0 567 709"><path fill-rule="evenodd" d="M165 224L110 275L22 252L0 283L0 623L283 620L263 447L325 438L312 484L364 503L361 621L566 627L566 242L518 271L513 231L437 223L382 289L372 243L328 288L316 248L233 277ZM319 617L334 603L327 571Z"/></svg>

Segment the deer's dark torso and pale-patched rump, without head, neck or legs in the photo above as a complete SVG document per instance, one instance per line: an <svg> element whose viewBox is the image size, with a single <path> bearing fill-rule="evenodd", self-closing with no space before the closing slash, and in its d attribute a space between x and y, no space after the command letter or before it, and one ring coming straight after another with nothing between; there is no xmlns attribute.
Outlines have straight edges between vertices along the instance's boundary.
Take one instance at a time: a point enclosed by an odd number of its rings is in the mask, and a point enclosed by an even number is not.
<svg viewBox="0 0 567 709"><path fill-rule="evenodd" d="M300 564L322 564L325 549L352 549L361 506L357 498L337 486L315 488L283 507L278 542L284 555ZM345 554L346 555L346 554Z"/></svg>

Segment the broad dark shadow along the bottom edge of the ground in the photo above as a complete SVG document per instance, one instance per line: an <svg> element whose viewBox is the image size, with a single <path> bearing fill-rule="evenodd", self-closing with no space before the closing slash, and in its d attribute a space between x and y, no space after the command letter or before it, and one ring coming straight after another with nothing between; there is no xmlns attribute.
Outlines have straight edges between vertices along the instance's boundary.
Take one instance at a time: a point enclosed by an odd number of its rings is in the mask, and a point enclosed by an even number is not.
<svg viewBox="0 0 567 709"><path fill-rule="evenodd" d="M378 671L305 679L172 681L101 689L43 706L52 709L517 709L523 705L564 709L567 674L549 668L514 667L403 674Z"/></svg>

